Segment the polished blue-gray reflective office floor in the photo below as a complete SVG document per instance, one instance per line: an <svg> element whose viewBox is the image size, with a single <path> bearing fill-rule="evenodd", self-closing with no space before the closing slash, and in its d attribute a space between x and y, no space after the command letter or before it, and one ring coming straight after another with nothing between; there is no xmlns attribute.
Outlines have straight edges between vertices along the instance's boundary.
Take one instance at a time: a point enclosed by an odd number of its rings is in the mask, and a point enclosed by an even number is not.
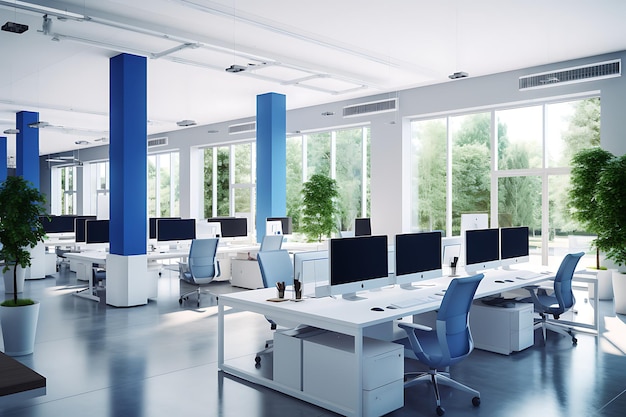
<svg viewBox="0 0 626 417"><path fill-rule="evenodd" d="M35 352L19 360L47 377L47 393L1 398L1 416L335 415L218 372L215 298L179 306L175 272L164 272L158 299L142 307L75 297L77 285L73 273L26 282L25 295L40 300L41 310ZM211 289L232 291L228 283ZM583 316L589 305L579 304ZM452 376L478 389L482 404L474 408L469 395L444 387L446 416L626 415L626 317L614 314L612 302L600 304L600 336L581 333L577 346L550 334L545 346L536 337L535 346L510 356L474 350ZM228 320L240 340L230 358L254 355L271 335L262 317L234 313ZM436 415L431 389L405 390L404 408L389 416Z"/></svg>

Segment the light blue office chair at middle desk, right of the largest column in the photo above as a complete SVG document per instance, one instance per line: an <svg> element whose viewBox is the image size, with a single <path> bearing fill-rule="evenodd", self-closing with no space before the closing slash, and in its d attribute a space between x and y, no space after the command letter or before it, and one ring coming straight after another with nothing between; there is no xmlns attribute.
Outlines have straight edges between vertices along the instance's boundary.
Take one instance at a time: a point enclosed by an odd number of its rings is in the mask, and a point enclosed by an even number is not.
<svg viewBox="0 0 626 417"><path fill-rule="evenodd" d="M182 304L183 300L188 300L191 294L198 294L198 307L200 307L200 287L209 284L214 278L220 276L220 263L216 258L218 238L194 239L189 248L189 259L187 262L179 262L179 277L196 289L184 293L178 299Z"/></svg>

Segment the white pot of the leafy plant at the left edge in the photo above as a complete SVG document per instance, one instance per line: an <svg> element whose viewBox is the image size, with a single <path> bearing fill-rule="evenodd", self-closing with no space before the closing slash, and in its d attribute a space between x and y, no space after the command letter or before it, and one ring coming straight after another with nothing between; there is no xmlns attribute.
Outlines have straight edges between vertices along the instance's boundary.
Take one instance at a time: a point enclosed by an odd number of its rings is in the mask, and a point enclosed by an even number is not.
<svg viewBox="0 0 626 417"><path fill-rule="evenodd" d="M4 353L22 356L33 353L39 319L39 302L20 307L0 306Z"/></svg>

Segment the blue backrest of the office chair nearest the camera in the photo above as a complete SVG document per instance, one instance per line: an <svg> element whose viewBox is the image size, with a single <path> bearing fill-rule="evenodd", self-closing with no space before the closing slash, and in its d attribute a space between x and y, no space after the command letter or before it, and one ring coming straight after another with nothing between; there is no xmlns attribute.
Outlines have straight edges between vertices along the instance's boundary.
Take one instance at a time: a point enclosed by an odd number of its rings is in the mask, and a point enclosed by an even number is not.
<svg viewBox="0 0 626 417"><path fill-rule="evenodd" d="M453 364L469 355L474 342L469 328L469 311L484 274L455 278L450 282L437 313L437 339L442 363Z"/></svg>

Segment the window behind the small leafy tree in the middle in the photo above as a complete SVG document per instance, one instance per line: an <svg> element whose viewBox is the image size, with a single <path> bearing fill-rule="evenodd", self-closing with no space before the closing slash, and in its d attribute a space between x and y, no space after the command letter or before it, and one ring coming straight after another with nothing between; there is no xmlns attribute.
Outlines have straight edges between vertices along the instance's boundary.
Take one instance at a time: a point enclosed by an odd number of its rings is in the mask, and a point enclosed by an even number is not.
<svg viewBox="0 0 626 417"><path fill-rule="evenodd" d="M340 230L352 230L354 219L369 216L370 129L354 127L287 138L287 215L300 229L302 184L324 174L339 187Z"/></svg>

